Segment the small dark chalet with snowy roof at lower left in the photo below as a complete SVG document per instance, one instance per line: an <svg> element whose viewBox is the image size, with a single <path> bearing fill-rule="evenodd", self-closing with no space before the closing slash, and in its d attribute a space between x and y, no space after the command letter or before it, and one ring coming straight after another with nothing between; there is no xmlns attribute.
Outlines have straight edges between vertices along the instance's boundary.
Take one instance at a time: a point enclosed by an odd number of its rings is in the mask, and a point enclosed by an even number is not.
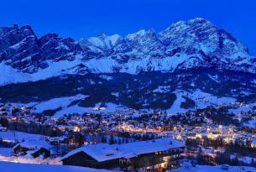
<svg viewBox="0 0 256 172"><path fill-rule="evenodd" d="M18 143L13 147L14 154L26 155L32 158L48 158L53 154L53 146L44 140L33 140Z"/></svg>

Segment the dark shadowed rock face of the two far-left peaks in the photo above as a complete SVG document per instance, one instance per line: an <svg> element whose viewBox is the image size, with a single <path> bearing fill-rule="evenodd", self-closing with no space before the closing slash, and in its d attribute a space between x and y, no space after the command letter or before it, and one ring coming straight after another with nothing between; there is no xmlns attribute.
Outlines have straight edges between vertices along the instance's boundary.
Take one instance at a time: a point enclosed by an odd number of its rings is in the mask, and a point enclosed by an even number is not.
<svg viewBox="0 0 256 172"><path fill-rule="evenodd" d="M81 51L73 39L46 34L38 39L30 26L0 29L0 62L25 73L47 68L46 60L74 60Z"/></svg>

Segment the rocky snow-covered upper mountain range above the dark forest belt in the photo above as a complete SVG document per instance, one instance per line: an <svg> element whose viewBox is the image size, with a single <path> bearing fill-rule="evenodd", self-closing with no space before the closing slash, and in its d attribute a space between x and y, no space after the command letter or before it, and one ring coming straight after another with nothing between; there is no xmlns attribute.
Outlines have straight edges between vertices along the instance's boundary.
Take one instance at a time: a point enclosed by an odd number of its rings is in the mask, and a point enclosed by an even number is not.
<svg viewBox="0 0 256 172"><path fill-rule="evenodd" d="M75 41L30 26L0 28L0 85L86 73L175 72L191 69L256 72L256 58L238 39L203 18L156 33L97 35Z"/></svg>

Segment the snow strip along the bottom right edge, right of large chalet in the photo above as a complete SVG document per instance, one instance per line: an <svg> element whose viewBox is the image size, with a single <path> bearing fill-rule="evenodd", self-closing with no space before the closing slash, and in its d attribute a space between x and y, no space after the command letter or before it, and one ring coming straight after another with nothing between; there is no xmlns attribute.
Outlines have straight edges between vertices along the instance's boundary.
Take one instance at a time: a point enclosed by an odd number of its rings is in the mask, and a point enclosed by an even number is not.
<svg viewBox="0 0 256 172"><path fill-rule="evenodd" d="M173 172L223 172L223 171L255 172L256 169L253 167L242 167L242 166L229 166L228 169L222 169L222 165L218 165L218 166L196 165L196 167L191 167L191 165L183 165L180 169L172 169L171 171Z"/></svg>

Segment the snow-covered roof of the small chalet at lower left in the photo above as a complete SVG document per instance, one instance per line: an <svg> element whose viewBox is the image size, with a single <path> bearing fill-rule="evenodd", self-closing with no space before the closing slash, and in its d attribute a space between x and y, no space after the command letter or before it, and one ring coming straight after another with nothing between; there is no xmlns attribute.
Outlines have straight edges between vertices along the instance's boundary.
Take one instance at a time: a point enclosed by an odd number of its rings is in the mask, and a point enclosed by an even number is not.
<svg viewBox="0 0 256 172"><path fill-rule="evenodd" d="M18 143L16 146L13 147L13 149L17 148L18 146L27 148L27 149L52 149L53 146L50 145L50 143L45 142L44 140L29 140L26 142Z"/></svg>

